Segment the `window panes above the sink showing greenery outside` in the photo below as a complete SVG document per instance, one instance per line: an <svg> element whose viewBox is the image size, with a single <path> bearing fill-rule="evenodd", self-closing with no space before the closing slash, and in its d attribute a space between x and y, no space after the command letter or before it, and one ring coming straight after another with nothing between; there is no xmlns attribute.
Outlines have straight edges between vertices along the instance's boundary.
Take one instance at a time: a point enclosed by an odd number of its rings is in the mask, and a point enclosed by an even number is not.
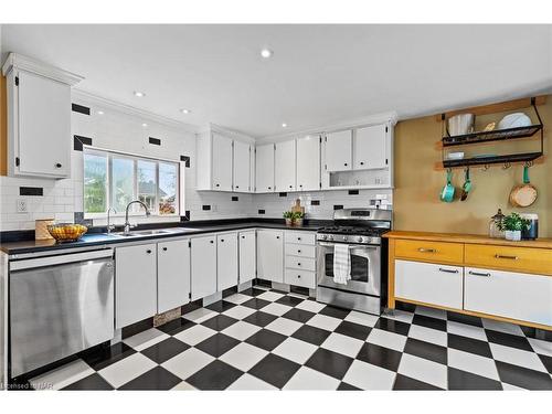
<svg viewBox="0 0 552 414"><path fill-rule="evenodd" d="M179 174L178 162L85 148L84 212L105 214L112 206L124 214L130 201L140 200L151 214L178 215Z"/></svg>

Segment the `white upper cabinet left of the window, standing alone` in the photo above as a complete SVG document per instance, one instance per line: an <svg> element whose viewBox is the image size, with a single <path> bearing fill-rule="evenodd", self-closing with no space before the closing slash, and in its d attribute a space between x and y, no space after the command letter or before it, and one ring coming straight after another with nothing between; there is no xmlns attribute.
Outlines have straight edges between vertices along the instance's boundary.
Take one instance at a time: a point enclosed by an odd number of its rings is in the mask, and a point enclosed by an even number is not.
<svg viewBox="0 0 552 414"><path fill-rule="evenodd" d="M71 86L82 77L10 54L8 173L42 178L71 174Z"/></svg>

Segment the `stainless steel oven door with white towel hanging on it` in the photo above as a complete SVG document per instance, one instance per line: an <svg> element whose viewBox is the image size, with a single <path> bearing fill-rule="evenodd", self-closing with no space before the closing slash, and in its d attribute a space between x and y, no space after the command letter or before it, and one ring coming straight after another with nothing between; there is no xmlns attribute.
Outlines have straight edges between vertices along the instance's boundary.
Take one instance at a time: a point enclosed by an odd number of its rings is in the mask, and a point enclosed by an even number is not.
<svg viewBox="0 0 552 414"><path fill-rule="evenodd" d="M318 242L318 285L365 295L381 294L381 246L350 244L351 279L343 284L333 282L333 246L336 243Z"/></svg>

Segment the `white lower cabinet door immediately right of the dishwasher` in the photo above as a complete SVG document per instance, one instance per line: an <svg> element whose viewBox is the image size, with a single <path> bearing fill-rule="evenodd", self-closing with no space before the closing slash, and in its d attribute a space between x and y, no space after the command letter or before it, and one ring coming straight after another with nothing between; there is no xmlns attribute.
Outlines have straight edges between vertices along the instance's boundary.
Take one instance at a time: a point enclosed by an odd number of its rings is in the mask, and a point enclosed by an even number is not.
<svg viewBox="0 0 552 414"><path fill-rule="evenodd" d="M156 244L115 248L115 327L156 315Z"/></svg>

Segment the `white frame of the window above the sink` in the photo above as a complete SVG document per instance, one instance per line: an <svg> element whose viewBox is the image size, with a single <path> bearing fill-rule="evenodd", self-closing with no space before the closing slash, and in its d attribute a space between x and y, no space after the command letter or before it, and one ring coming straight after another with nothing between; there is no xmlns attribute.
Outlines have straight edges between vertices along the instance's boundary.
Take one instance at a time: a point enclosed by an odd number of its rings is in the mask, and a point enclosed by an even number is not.
<svg viewBox="0 0 552 414"><path fill-rule="evenodd" d="M84 169L85 169L85 161L84 161L84 153L89 152L89 153L96 153L99 156L105 156L107 158L107 171L106 171L106 211L104 212L97 212L97 213L88 213L85 210L85 180L84 180ZM166 159L166 158L153 158L153 157L147 157L147 156L141 156L137 153L130 153L130 152L123 152L123 151L117 151L117 150L112 150L112 149L106 149L106 148L98 148L98 147L93 147L93 146L83 146L83 212L84 212L84 217L85 219L105 219L107 215L107 211L113 206L113 158L123 158L123 159L130 159L132 160L132 200L138 200L139 198L139 183L138 183L138 161L147 161L147 162L153 162L155 168L156 168L156 210L151 211L151 216L153 217L179 217L180 212L183 209L183 194L184 194L184 176L183 176L183 164L181 161L176 161L171 159ZM172 164L176 168L176 194L174 194L174 213L172 214L159 214L159 201L160 201L160 187L159 187L159 163L168 163ZM121 217L125 216L125 211L118 211L117 213L112 213L110 214L114 217ZM132 206L131 210L128 213L129 216L142 216L144 211L140 210L135 210Z"/></svg>

